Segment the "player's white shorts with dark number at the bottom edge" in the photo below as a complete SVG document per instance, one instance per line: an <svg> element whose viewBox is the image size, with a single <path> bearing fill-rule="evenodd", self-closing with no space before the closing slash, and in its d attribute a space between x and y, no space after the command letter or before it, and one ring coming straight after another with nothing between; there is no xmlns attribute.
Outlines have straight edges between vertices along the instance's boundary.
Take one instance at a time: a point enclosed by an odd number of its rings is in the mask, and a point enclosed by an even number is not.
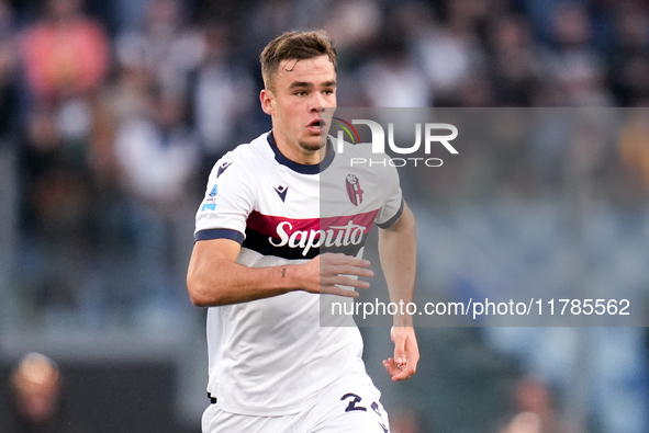
<svg viewBox="0 0 649 433"><path fill-rule="evenodd" d="M254 417L225 412L219 403L203 413L203 433L389 433L388 413L371 384L336 383L301 412Z"/></svg>

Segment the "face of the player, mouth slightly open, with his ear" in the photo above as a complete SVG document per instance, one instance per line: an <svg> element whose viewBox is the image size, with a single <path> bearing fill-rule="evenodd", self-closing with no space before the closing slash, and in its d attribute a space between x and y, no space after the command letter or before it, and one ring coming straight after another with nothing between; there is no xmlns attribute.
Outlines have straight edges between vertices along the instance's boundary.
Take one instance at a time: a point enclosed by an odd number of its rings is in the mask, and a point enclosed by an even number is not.
<svg viewBox="0 0 649 433"><path fill-rule="evenodd" d="M331 126L322 122L322 109L336 106L334 65L327 56L282 60L275 76L275 91L261 91L261 106L272 115L275 138L282 152L289 153L286 157L311 163L325 143L321 135L326 135Z"/></svg>

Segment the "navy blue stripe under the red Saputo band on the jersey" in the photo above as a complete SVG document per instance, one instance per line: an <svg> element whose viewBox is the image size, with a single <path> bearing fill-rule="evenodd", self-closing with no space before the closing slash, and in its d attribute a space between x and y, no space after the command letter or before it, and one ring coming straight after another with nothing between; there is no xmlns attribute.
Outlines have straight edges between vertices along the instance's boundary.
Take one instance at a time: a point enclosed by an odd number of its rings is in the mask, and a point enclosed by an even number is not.
<svg viewBox="0 0 649 433"><path fill-rule="evenodd" d="M280 239L271 238L276 244L279 244ZM303 248L291 248L288 244L275 247L270 243L269 236L262 235L257 230L246 229L246 240L244 240L243 248L256 251L261 255L275 255L287 260L310 260L316 258L321 252L343 253L346 255L356 255L365 246L367 235L358 244L348 246L332 246L332 247L313 247L309 249L306 254L303 254Z"/></svg>

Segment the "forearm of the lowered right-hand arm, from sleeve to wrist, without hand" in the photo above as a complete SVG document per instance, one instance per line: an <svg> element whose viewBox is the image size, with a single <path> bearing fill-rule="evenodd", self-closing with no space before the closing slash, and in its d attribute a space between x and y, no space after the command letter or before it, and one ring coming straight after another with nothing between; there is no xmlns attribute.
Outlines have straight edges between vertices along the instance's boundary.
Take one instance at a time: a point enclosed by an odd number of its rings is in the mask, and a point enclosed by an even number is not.
<svg viewBox="0 0 649 433"><path fill-rule="evenodd" d="M404 205L403 214L389 229L379 230L379 257L388 282L390 300L411 303L417 264L415 218ZM395 326L412 326L409 315L394 316Z"/></svg>

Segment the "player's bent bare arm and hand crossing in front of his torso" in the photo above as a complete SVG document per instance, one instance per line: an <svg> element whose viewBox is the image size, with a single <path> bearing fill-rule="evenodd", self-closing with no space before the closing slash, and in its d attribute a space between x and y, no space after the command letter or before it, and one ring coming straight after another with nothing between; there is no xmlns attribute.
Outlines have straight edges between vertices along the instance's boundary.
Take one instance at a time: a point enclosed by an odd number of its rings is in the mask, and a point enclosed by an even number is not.
<svg viewBox="0 0 649 433"><path fill-rule="evenodd" d="M187 288L191 301L200 307L246 303L292 290L357 297L337 285L367 288L368 283L344 275L371 276L369 262L344 254L323 254L309 262L271 267L248 267L235 263L240 251L231 239L194 243Z"/></svg>

